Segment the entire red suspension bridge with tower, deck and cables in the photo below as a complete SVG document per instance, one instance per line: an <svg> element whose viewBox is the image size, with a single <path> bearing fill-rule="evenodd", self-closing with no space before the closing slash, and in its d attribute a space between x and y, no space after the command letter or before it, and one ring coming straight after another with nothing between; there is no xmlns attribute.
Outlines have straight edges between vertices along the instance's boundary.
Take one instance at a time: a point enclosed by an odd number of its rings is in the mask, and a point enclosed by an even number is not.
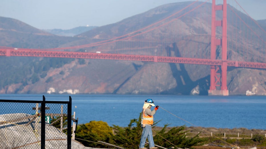
<svg viewBox="0 0 266 149"><path fill-rule="evenodd" d="M195 57L195 55L198 56L197 54L194 54L194 57L189 57L186 55L189 55L191 51L186 51L186 50L181 51L177 49L178 52L180 52L180 54L178 55L175 53L175 56L171 56L171 51L165 50L165 47L177 41L182 42L182 39L179 39L178 36L173 36L167 39L155 38L156 34L161 34L161 35L164 34L160 30L160 28L173 25L173 23L178 22L179 19L181 19L183 16L189 15L191 12L193 12L195 9L198 9L199 7L203 7L206 2L207 1L199 3L198 1L195 1L193 3L190 3L190 5L184 7L183 9L179 10L178 12L173 13L172 15L158 22L155 22L151 25L130 32L128 34L124 34L122 36L110 38L107 40L102 40L85 45L78 45L72 47L59 47L51 49L0 47L0 56L112 59L112 60L143 61L143 62L209 65L210 66L209 94L227 96L228 95L227 82L226 82L227 67L266 69L266 62L265 62L266 48L265 48L265 41L260 35L258 35L257 33L258 31L254 30L253 27L249 26L250 23L245 22L245 20L239 16L239 13L235 11L233 7L227 5L226 0L223 0L222 4L216 4L216 1L212 0L211 20L209 20L209 23L211 24L211 30L209 32L210 35L208 33L203 34L204 32L206 32L203 29L199 31L200 34L198 33L193 35L193 36L199 36L199 35L206 36L210 40L210 44L208 44L207 42L205 43L203 42L203 45L205 44L206 47L209 47L210 49L209 54L200 55L198 58ZM233 18L232 16L230 16L229 18L227 17L227 12L228 12L227 7L229 7L231 14L234 14L235 18ZM184 13L183 11L188 8L190 8L190 10ZM245 10L243 11L245 12ZM220 17L219 17L219 12L221 12ZM250 20L254 22L253 24L256 24L258 26L260 32L266 34L266 32L257 24L255 20L253 20L248 14L247 16L250 18ZM229 25L231 29L229 34L227 34L228 31L227 22L230 22ZM200 26L199 24L196 25ZM204 24L201 25L204 27ZM242 36L243 33L239 34L240 31L237 31L234 25L237 25L236 28L241 28L242 30L248 29L249 32L245 32L244 34L249 39L244 41L239 41L239 38ZM178 31L182 32L180 30ZM169 34L169 31L166 32ZM219 55L219 53L217 53L218 47L221 49L220 56L217 56ZM251 48L256 49L255 54L250 53ZM84 52L62 51L69 49L84 49ZM231 59L229 59L229 55L227 55L228 53L227 49L230 49L230 52L238 53L238 55L240 56L237 58L231 57ZM96 51L101 51L101 52L96 52ZM135 51L135 53L131 54L130 52L132 51ZM136 54L136 51L138 54ZM194 52L200 53L198 49L196 49Z"/></svg>

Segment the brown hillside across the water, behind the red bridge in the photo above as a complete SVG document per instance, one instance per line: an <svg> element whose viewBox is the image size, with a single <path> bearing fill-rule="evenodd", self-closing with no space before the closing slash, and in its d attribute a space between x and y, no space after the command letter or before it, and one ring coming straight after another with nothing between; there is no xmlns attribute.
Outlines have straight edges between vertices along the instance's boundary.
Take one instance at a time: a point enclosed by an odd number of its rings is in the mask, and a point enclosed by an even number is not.
<svg viewBox="0 0 266 149"><path fill-rule="evenodd" d="M18 20L8 18L9 22L5 21L4 24L0 25L0 28L4 28L4 30L0 31L0 43L1 46L10 47L53 48L101 42L132 33L163 20L190 3L182 2L162 5L142 14L125 18L114 24L94 28L74 37L55 36L22 22L20 22L20 27L9 26L8 24L14 24ZM104 53L153 55L154 51L162 49L162 54L165 56L197 57L197 55L209 55L211 24L205 20L207 20L206 18L211 18L211 4L207 3L202 7L171 22L167 28L157 28L148 32L148 34L139 35L137 40L128 39L116 43L71 50L87 52L100 50ZM193 8L186 11L191 9ZM229 11L228 13L230 17L232 12ZM242 13L238 13L240 16L245 17ZM263 22L261 23L263 24ZM10 28L5 29L7 28L6 26ZM16 32L20 29L23 32ZM32 33L29 33L28 30L32 30ZM235 24L230 24L228 26L228 36L233 34L233 30L236 30ZM242 30L238 28L237 30L242 32L246 28ZM265 34L259 34L264 38ZM176 40L174 42L166 38L170 35L175 36ZM246 40L244 37L239 38L239 40ZM145 49L146 44L139 44L139 41L146 42L154 41L155 39L160 39L160 42L150 42L149 44L152 47L156 47L156 49L150 51L128 50L128 48ZM235 43L229 42L228 44L237 46ZM217 51L219 50L221 49L218 48ZM257 53L255 49L253 50L254 53ZM217 57L220 56L217 55ZM228 57L233 60L242 60L239 57L239 53L235 52L234 49L228 50ZM210 68L205 65L30 57L4 57L0 62L1 75L3 74L2 77L7 78L6 80L0 80L1 94L40 94L48 91L54 94L189 95L192 91L198 90L198 94L206 95L209 89ZM244 95L246 90L251 90L256 95L266 95L265 80L265 70L228 68L227 84L230 95Z"/></svg>

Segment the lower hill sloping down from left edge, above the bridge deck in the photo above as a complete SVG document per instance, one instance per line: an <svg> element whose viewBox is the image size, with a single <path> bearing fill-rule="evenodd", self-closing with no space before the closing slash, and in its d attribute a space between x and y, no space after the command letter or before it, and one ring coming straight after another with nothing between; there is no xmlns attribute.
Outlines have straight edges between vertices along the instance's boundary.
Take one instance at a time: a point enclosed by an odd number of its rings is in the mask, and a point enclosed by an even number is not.
<svg viewBox="0 0 266 149"><path fill-rule="evenodd" d="M19 20L0 17L0 45L17 48L54 48L78 40L55 36Z"/></svg>

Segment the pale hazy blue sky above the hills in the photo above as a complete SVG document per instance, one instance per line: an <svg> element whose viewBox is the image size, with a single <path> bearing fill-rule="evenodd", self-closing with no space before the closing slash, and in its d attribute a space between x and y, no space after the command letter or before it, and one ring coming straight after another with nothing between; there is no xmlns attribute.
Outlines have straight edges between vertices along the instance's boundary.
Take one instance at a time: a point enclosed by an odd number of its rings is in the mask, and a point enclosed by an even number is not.
<svg viewBox="0 0 266 149"><path fill-rule="evenodd" d="M160 5L181 1L188 0L1 0L0 16L39 29L71 29L112 24ZM236 1L255 20L266 19L266 0ZM235 0L227 0L227 3L237 6Z"/></svg>

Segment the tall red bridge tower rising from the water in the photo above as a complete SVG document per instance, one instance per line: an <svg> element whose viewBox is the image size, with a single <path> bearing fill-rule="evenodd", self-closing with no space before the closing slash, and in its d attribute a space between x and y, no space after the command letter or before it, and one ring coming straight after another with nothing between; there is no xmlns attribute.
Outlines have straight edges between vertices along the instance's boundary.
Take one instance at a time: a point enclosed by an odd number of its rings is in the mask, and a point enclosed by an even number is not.
<svg viewBox="0 0 266 149"><path fill-rule="evenodd" d="M216 20L216 11L223 11L223 19ZM216 27L222 26L222 39L216 38ZM223 0L223 5L216 5L215 0L212 0L211 9L211 60L217 59L216 48L221 45L222 48L222 65L211 65L211 79L209 95L228 96L227 90L227 3Z"/></svg>

